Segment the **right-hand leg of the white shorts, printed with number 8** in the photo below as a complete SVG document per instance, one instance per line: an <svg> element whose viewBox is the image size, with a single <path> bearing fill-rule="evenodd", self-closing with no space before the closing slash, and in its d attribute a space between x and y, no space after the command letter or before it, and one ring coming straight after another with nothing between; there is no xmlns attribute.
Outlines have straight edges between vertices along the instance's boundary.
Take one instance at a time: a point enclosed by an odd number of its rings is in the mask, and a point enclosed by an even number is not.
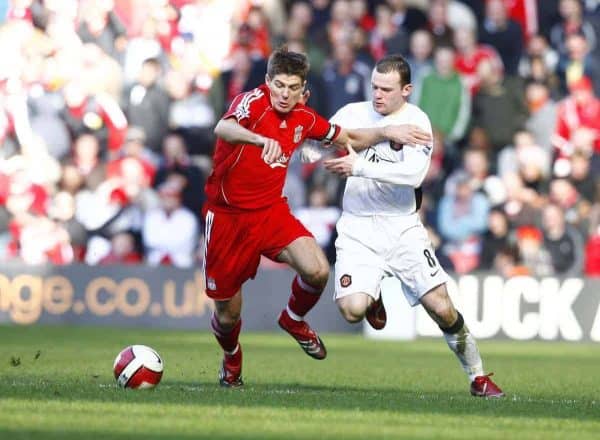
<svg viewBox="0 0 600 440"><path fill-rule="evenodd" d="M400 235L387 264L402 282L403 293L413 306L419 304L426 293L448 281L448 275L440 266L427 230L422 225L407 229Z"/></svg>

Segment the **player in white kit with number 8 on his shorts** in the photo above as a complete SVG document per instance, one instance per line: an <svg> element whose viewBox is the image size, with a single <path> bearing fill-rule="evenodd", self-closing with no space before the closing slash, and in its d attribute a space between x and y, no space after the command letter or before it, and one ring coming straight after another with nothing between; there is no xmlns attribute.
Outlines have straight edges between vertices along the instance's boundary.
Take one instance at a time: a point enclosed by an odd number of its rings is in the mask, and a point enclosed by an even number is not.
<svg viewBox="0 0 600 440"><path fill-rule="evenodd" d="M407 102L412 85L404 58L381 59L371 83L372 102L348 104L331 122L348 128L408 124L431 134L427 115ZM417 212L432 149L432 144L382 142L357 153L348 146L347 156L324 162L329 171L348 177L335 243L336 302L348 322L366 317L381 329L386 314L380 283L384 277L398 278L409 303L422 304L443 331L469 376L471 394L502 397L502 390L484 374L477 343L448 296L448 275Z"/></svg>

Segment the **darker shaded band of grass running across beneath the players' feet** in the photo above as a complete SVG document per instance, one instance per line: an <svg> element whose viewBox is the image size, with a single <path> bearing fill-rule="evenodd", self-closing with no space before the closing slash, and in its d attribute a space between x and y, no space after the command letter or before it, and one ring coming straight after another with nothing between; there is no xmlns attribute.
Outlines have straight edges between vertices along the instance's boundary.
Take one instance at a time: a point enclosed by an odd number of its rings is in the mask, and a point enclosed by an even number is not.
<svg viewBox="0 0 600 440"><path fill-rule="evenodd" d="M59 391L60 390L60 391ZM446 390L416 392L407 389L371 389L286 384L247 384L241 389L222 389L214 382L166 381L151 391L121 390L115 385L61 389L46 382L43 388L0 386L4 398L26 398L40 402L89 401L135 403L140 405L186 405L290 410L336 410L365 412L402 412L403 414L443 414L451 416L489 416L517 418L573 419L598 421L598 402L560 398L511 396L504 399L475 398L468 392ZM2 437L0 438L12 438Z"/></svg>

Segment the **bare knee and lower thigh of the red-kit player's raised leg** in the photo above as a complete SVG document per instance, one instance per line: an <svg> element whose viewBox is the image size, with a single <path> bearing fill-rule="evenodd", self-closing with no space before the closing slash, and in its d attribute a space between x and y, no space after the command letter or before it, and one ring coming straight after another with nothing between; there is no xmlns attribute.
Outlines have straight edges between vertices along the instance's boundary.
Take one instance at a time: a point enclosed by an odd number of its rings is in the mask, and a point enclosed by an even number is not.
<svg viewBox="0 0 600 440"><path fill-rule="evenodd" d="M329 275L327 257L313 237L296 238L279 253L277 260L289 264L301 277Z"/></svg>

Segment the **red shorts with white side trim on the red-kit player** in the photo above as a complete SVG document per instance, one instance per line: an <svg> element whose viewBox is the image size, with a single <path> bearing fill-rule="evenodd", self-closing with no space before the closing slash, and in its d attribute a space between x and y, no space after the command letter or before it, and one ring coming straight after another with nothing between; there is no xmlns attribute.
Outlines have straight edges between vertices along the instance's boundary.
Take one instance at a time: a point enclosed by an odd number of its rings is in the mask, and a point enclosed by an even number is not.
<svg viewBox="0 0 600 440"><path fill-rule="evenodd" d="M204 282L215 300L233 297L254 278L260 256L275 260L299 237L312 234L290 212L287 203L260 211L223 212L204 208Z"/></svg>

